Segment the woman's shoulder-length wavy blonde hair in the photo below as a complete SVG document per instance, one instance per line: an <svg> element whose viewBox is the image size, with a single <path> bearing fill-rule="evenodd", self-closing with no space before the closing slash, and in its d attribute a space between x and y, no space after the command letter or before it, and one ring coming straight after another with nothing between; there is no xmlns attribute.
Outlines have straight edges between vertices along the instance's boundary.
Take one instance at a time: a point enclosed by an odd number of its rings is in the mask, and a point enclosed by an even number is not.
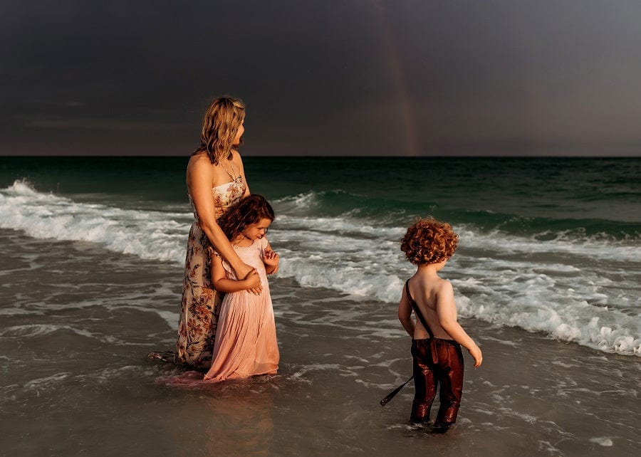
<svg viewBox="0 0 641 457"><path fill-rule="evenodd" d="M239 98L224 95L213 100L205 111L200 132L200 146L194 154L206 151L214 165L217 165L221 159L229 157L231 144L244 119L245 104ZM242 141L241 138L240 144Z"/></svg>

